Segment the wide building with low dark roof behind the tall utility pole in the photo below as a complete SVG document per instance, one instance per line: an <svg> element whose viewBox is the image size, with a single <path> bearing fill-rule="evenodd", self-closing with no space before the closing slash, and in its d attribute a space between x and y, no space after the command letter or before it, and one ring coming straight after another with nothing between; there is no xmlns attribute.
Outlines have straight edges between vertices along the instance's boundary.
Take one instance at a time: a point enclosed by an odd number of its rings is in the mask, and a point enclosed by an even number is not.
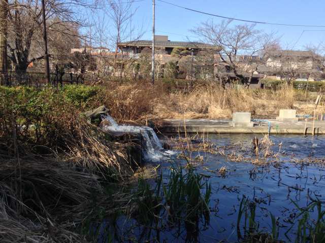
<svg viewBox="0 0 325 243"><path fill-rule="evenodd" d="M171 55L174 49L183 49L192 51L194 55L199 51L204 49L218 49L217 46L209 45L205 43L199 42L173 42L169 41L167 35L155 35L154 36L154 44L157 51L159 50L159 54ZM118 48L122 50L124 53L130 54L138 54L141 53L145 48L152 48L152 41L132 41L132 42L122 42L118 44Z"/></svg>

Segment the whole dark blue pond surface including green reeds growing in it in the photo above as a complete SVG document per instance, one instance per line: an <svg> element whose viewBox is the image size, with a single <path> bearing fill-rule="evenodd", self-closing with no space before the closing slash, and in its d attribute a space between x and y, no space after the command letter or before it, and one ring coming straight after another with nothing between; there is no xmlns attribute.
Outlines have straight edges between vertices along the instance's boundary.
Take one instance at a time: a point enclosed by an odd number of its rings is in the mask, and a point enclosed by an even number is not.
<svg viewBox="0 0 325 243"><path fill-rule="evenodd" d="M316 225L325 232L325 137L270 136L268 158L254 138L210 134L209 152L152 162L160 176L139 179L135 209L96 225L98 242L313 242Z"/></svg>

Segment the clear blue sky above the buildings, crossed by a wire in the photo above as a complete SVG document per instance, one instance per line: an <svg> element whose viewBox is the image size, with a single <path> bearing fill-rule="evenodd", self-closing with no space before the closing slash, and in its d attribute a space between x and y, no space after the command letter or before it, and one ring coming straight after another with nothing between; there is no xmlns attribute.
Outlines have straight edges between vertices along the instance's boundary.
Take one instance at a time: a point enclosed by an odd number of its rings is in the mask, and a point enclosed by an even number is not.
<svg viewBox="0 0 325 243"><path fill-rule="evenodd" d="M132 21L143 25L145 33L142 39L151 39L152 0L135 1L134 6L138 9ZM197 41L198 37L193 36L190 32L191 28L208 19L213 19L216 23L222 21L218 17L191 12L158 0L155 1L156 34L168 35L170 41L187 41L188 39ZM166 0L166 2L232 18L281 24L325 26L323 17L325 1L323 0ZM244 24L241 21L233 21L233 23ZM325 27L257 24L256 29L262 29L267 33L276 32L276 35L280 37L283 49L304 50L306 45L318 45L325 41Z"/></svg>

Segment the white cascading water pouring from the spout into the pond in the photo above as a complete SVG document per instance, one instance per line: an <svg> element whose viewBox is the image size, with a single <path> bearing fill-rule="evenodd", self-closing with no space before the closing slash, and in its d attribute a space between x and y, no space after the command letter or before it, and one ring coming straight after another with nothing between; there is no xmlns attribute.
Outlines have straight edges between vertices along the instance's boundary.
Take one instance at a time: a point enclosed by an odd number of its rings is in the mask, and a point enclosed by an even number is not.
<svg viewBox="0 0 325 243"><path fill-rule="evenodd" d="M114 118L110 115L102 115L102 119L109 121L110 126L105 126L104 129L115 132L115 133L134 133L141 134L144 140L145 153L147 159L157 159L163 155L159 152L163 150L163 145L161 145L159 138L152 128L149 127L137 127L137 126L119 126Z"/></svg>

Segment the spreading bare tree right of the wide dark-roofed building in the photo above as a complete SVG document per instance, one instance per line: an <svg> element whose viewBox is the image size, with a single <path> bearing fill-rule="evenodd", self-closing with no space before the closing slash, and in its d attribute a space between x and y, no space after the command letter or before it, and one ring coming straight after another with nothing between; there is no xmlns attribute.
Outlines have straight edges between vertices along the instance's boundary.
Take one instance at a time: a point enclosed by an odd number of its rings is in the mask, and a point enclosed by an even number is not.
<svg viewBox="0 0 325 243"><path fill-rule="evenodd" d="M266 34L255 29L255 25L231 25L232 21L222 21L215 24L213 20L201 23L191 31L198 35L203 42L219 47L217 59L221 72L233 73L242 84L249 87L253 74L259 65L267 59L266 52L276 46L274 33ZM219 77L220 83L222 77Z"/></svg>

